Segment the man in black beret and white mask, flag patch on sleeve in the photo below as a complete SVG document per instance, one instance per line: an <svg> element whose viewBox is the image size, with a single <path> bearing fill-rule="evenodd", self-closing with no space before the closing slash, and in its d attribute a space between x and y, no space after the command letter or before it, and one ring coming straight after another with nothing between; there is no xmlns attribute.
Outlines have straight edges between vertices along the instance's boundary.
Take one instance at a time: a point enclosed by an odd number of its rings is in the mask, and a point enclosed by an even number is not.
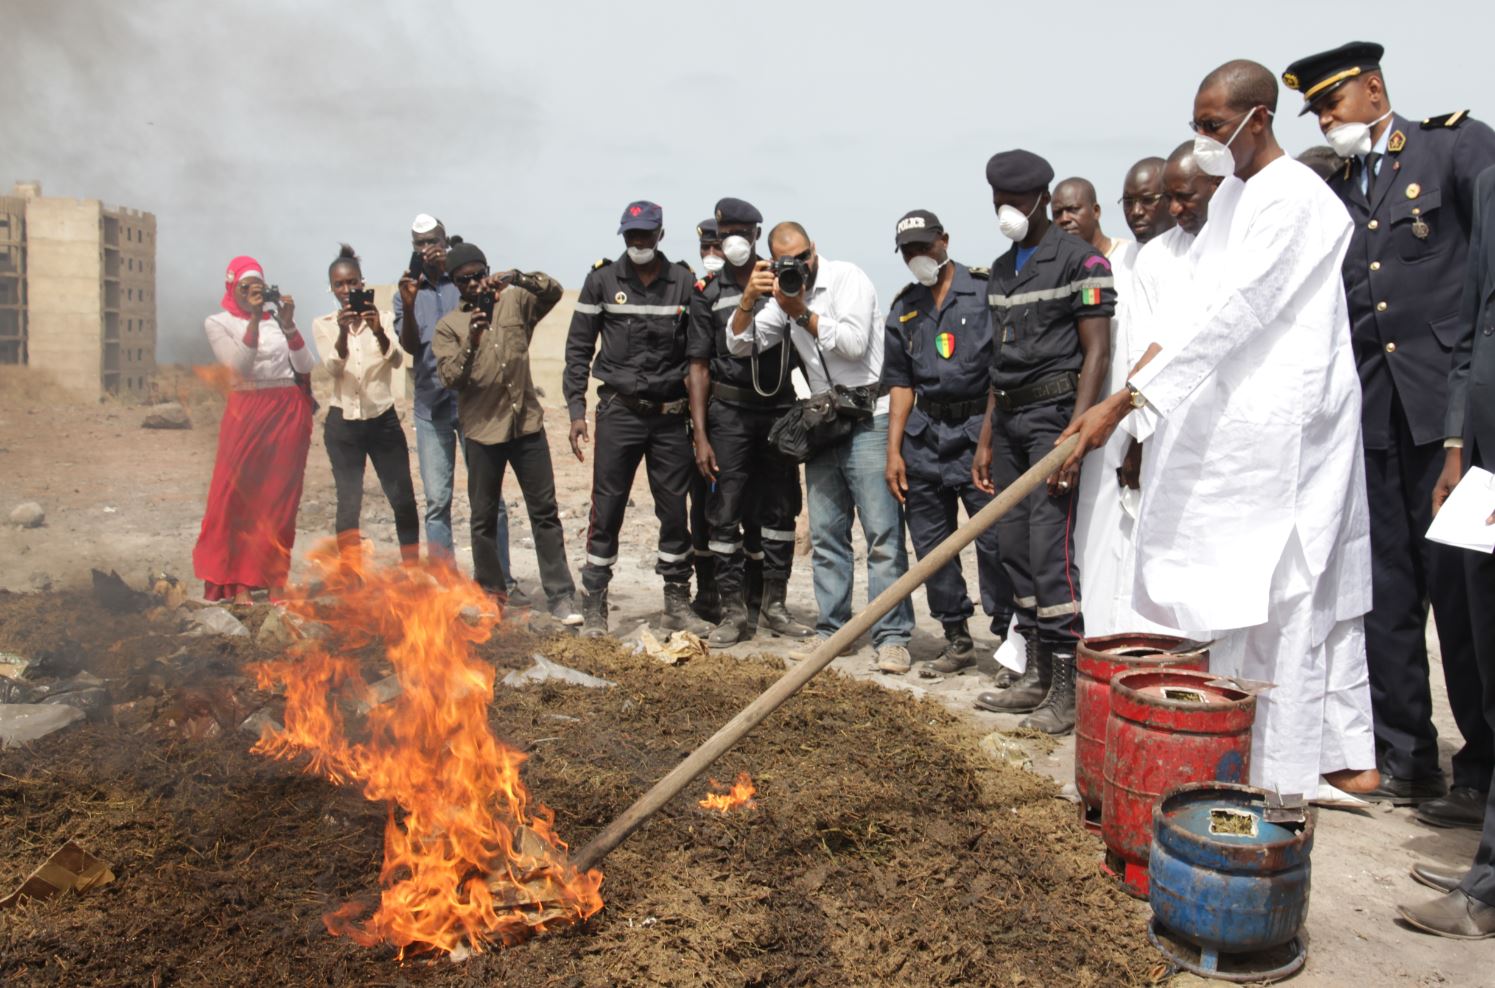
<svg viewBox="0 0 1495 988"><path fill-rule="evenodd" d="M987 291L991 395L972 459L972 480L987 493L1046 456L1096 401L1109 371L1117 299L1111 262L1049 221L1051 181L1054 169L1032 151L1003 151L987 161L997 226L1012 241L993 262ZM1027 662L1012 686L976 698L984 710L1029 713L1023 726L1048 734L1075 726L1075 647L1084 637L1075 565L1078 481L1078 463L1069 465L997 522Z"/></svg>

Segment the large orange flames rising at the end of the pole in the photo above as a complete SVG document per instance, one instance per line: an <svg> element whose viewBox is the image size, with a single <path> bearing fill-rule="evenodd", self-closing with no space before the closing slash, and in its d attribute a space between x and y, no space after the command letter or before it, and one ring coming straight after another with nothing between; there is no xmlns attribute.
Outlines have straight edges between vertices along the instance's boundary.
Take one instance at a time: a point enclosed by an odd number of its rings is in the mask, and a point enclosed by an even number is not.
<svg viewBox="0 0 1495 988"><path fill-rule="evenodd" d="M489 728L493 668L472 646L499 620L492 601L450 568L348 568L332 547L314 562L323 589L292 592L287 605L324 634L256 668L262 689L284 685L286 726L253 750L309 755L309 773L389 804L380 904L359 919L348 903L324 916L327 930L404 958L463 940L513 945L597 913L602 873L567 862L555 813L520 779L525 755ZM356 658L374 644L399 685L387 703ZM348 719L362 710L366 740L354 741Z"/></svg>

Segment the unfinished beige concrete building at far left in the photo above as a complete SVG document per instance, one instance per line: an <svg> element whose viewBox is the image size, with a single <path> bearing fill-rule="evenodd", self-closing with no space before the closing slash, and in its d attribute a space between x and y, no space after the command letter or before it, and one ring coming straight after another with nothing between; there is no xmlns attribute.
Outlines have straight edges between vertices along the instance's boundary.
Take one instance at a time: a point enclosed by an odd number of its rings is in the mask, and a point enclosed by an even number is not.
<svg viewBox="0 0 1495 988"><path fill-rule="evenodd" d="M16 182L0 197L0 363L81 396L144 396L155 375L155 217Z"/></svg>

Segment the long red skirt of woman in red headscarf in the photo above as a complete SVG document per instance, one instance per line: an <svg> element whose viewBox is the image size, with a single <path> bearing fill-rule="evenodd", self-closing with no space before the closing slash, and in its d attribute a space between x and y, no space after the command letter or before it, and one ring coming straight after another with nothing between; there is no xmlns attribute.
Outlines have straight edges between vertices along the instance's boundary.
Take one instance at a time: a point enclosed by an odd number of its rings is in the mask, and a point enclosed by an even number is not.
<svg viewBox="0 0 1495 988"><path fill-rule="evenodd" d="M191 553L209 601L286 584L309 447L311 402L295 384L229 395Z"/></svg>

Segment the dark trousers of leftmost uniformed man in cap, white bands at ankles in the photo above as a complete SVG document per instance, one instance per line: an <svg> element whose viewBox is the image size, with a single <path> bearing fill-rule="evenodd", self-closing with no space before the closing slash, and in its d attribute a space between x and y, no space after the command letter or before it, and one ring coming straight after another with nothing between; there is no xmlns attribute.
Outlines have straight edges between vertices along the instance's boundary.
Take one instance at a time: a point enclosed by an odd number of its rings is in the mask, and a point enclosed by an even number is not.
<svg viewBox="0 0 1495 988"><path fill-rule="evenodd" d="M697 469L685 416L646 416L616 396L607 396L597 407L597 444L592 448L592 517L582 587L597 593L605 590L613 578L617 532L623 528L628 493L640 460L649 471L649 490L653 493L655 517L659 519L655 572L665 583L689 583L691 531L685 495Z"/></svg>

